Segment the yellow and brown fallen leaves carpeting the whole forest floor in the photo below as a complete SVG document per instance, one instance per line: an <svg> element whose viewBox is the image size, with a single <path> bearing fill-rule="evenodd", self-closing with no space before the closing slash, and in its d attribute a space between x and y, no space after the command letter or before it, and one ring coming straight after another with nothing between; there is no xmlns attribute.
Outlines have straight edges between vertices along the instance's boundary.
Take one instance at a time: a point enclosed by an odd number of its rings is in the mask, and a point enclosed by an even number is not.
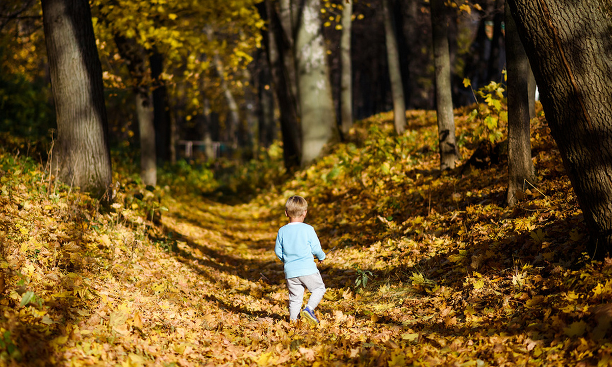
<svg viewBox="0 0 612 367"><path fill-rule="evenodd" d="M465 115L463 163L477 146ZM239 204L116 174L105 210L2 150L1 364L608 365L611 263L583 253L542 113L538 181L514 208L503 157L440 173L435 114L408 119L401 136L390 114L359 122L314 165L236 192ZM272 251L291 195L330 251L318 325L288 323Z"/></svg>

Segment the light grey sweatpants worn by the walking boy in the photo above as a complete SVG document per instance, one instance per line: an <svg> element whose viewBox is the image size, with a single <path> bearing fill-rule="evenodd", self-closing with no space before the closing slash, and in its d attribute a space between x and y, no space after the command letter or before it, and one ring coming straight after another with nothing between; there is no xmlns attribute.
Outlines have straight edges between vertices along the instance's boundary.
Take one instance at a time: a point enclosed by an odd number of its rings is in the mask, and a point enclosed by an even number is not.
<svg viewBox="0 0 612 367"><path fill-rule="evenodd" d="M289 289L289 321L297 320L297 315L300 313L302 303L304 302L304 288L310 291L307 306L311 310L315 310L325 294L325 284L323 284L321 273L316 272L287 280L287 289Z"/></svg>

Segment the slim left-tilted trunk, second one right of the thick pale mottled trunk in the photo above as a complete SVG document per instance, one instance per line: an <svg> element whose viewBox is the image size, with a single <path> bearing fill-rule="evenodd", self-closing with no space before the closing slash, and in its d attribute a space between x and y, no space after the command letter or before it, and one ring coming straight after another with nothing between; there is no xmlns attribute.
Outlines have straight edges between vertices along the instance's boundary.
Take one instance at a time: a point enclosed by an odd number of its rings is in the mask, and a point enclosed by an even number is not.
<svg viewBox="0 0 612 367"><path fill-rule="evenodd" d="M404 87L401 82L401 70L397 39L393 24L392 7L390 0L383 0L384 12L384 34L387 46L387 64L389 65L389 80L391 82L391 94L393 95L393 118L395 132L400 135L406 130L406 102L404 98Z"/></svg>

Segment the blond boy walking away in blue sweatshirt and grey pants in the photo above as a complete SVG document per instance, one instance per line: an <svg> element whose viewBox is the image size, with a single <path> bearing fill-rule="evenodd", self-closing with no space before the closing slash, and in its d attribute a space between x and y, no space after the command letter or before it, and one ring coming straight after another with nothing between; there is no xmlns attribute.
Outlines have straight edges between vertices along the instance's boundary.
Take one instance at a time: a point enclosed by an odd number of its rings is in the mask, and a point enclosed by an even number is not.
<svg viewBox="0 0 612 367"><path fill-rule="evenodd" d="M308 203L302 196L291 196L285 204L285 215L289 223L278 229L274 252L285 267L285 278L289 290L289 322L296 321L301 314L317 324L315 308L323 299L325 284L313 261L313 255L322 262L325 253L315 229L304 223ZM304 302L304 287L310 291L310 298L300 313Z"/></svg>

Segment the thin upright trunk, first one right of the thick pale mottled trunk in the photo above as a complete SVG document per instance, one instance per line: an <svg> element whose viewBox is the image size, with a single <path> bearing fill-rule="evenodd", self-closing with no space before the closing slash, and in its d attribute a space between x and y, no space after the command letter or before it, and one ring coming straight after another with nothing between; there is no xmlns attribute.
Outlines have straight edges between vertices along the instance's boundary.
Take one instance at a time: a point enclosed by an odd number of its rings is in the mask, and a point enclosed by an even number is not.
<svg viewBox="0 0 612 367"><path fill-rule="evenodd" d="M342 35L340 39L340 118L341 132L346 136L353 127L353 72L351 68L351 24L353 1L342 4Z"/></svg>

